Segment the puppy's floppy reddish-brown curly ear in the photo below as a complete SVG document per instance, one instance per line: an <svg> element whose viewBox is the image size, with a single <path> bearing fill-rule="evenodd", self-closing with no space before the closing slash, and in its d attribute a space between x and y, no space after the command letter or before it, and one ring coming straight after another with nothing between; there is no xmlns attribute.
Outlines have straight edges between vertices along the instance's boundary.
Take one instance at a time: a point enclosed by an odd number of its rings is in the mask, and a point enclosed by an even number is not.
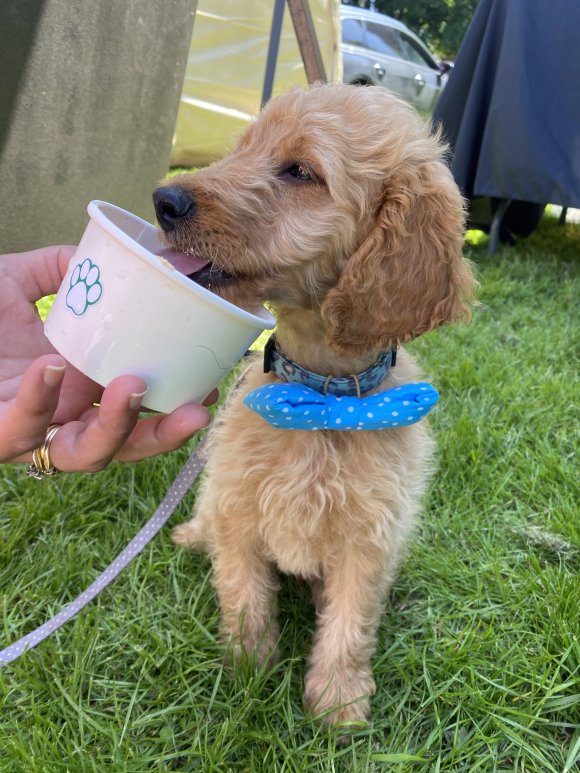
<svg viewBox="0 0 580 773"><path fill-rule="evenodd" d="M409 167L385 183L370 233L322 305L328 343L344 354L470 316L476 281L462 257L461 195L443 162Z"/></svg>

